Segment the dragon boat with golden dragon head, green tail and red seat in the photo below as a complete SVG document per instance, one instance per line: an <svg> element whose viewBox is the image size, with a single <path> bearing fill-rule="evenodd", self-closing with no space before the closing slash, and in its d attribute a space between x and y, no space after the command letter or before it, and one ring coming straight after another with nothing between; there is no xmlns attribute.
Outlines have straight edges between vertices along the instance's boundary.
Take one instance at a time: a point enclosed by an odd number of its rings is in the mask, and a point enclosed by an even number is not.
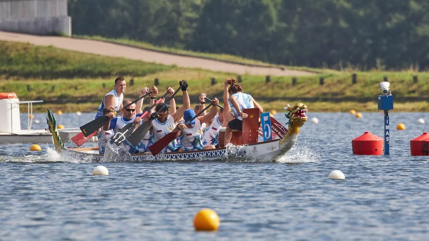
<svg viewBox="0 0 429 241"><path fill-rule="evenodd" d="M258 161L277 161L284 153L288 152L295 144L299 130L307 121L306 113L308 108L305 104L296 103L287 107L284 107L287 111L285 114L288 122L288 128L285 129L285 134L280 139L268 140L263 142L257 141L258 128L259 128L259 116L258 109L245 109L248 111L249 118L243 119L243 130L234 131L231 144L226 147L223 145L224 140L224 128L221 128L219 132L219 146L217 149L189 151L189 152L167 152L153 156L150 152L130 154L127 159L121 155L121 161L160 161L160 160L222 160L229 158L251 158L252 160ZM251 112L254 111L255 114ZM246 112L245 112L246 113ZM254 118L254 119L252 119ZM76 147L64 147L61 141L57 128L55 117L48 109L47 123L49 131L52 134L54 140L54 146L57 152L70 156L71 158L82 160L82 161L111 161L112 157L109 156L111 153L106 151L106 154L99 154L98 147L90 148L76 148ZM256 123L254 125L246 124L246 122ZM248 122L248 123L249 123ZM275 129L275 126L272 126ZM255 139L256 135L256 139ZM281 135L279 136L281 137ZM253 141L252 141L253 139ZM255 141L256 140L256 141ZM114 144L113 144L114 145ZM118 154L118 153L116 153Z"/></svg>

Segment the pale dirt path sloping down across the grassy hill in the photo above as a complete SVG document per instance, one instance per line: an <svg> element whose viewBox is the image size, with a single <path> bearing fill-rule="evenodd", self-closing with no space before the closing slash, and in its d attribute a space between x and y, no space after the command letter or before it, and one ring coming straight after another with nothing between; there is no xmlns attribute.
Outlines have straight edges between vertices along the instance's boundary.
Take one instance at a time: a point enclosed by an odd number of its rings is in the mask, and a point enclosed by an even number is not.
<svg viewBox="0 0 429 241"><path fill-rule="evenodd" d="M187 57L175 54L165 54L157 51L144 50L141 48L128 47L88 39L74 39L57 36L35 36L21 33L9 33L0 31L0 40L9 42L24 42L33 45L52 45L82 53L98 54L111 57L124 57L131 60L142 60L145 62L155 62L164 65L177 65L183 68L202 68L211 71L222 71L236 74L272 75L272 76L299 76L311 75L314 73L298 70L281 70L272 67L255 67L227 63L218 60L207 60L198 57Z"/></svg>

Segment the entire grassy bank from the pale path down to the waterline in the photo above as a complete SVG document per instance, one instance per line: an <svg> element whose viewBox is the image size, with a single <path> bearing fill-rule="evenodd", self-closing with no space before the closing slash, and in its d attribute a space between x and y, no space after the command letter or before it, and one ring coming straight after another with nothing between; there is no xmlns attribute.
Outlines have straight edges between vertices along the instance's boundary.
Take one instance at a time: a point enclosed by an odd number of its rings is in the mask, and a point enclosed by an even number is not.
<svg viewBox="0 0 429 241"><path fill-rule="evenodd" d="M402 71L356 72L357 83L351 84L352 72L327 71L312 76L271 77L242 75L244 92L253 95L269 110L282 110L288 99L300 98L375 98L380 94L378 83L387 77L392 92L397 97L429 97L429 73ZM113 88L118 75L127 79L126 98L135 98L144 86L152 86L159 80L161 92L178 86L178 80L186 79L190 95L206 92L209 97L221 98L224 79L235 74L202 69L177 68L124 58L102 57L60 50L53 47L36 47L28 44L0 42L0 89L15 92L21 100L85 100L86 104L35 105L35 110L45 111L46 106L56 106L66 112L93 112L103 95ZM414 83L412 76L418 78ZM130 85L133 78L134 85ZM211 85L210 79L216 83ZM324 84L319 80L323 78ZM104 86L104 87L103 87ZM178 96L181 93L179 92ZM269 101L269 98L273 98ZM332 100L335 102L335 100ZM305 102L305 101L303 101ZM317 111L376 111L375 102L305 102L313 112ZM338 102L338 101L337 101ZM361 101L362 102L362 101ZM92 103L92 104L91 104ZM401 107L403 106L403 107ZM411 106L411 107L410 107ZM397 103L396 111L429 111L426 102Z"/></svg>

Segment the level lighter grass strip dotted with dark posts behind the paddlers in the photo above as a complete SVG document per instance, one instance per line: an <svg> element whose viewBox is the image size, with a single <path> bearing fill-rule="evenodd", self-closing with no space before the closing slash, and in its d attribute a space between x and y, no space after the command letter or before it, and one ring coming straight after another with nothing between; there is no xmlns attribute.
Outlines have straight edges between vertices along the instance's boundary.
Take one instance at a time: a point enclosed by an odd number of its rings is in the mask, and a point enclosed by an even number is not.
<svg viewBox="0 0 429 241"><path fill-rule="evenodd" d="M417 74L418 83L413 83L412 74ZM297 77L297 83L293 86L291 77L272 77L269 83L265 83L263 76L243 75L243 82L240 84L244 92L255 98L374 98L381 93L378 83L383 81L383 76L387 76L395 96L429 97L429 73L363 72L357 73L358 81L354 85L351 84L350 76L350 73L338 73ZM127 80L130 79L129 76L125 77ZM215 85L210 84L211 77L217 80ZM169 86L176 89L178 80L186 79L190 86L188 89L190 95L207 92L210 96L219 97L223 93L226 77L236 76L198 69L173 68L143 77L133 77L134 85L127 86L126 96L130 98L137 96L139 89L154 85L154 79L158 78L159 89L166 89ZM319 77L324 77L323 85L319 85ZM0 81L0 89L3 89L3 92L16 92L24 100L35 98L98 100L113 88L114 78ZM30 86L30 91L27 91L27 86Z"/></svg>

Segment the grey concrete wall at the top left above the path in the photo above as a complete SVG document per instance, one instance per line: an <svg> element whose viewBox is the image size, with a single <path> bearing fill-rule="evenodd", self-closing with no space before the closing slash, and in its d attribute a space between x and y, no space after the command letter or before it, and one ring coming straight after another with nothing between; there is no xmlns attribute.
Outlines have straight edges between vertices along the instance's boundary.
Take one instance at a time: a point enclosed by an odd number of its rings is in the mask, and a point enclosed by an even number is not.
<svg viewBox="0 0 429 241"><path fill-rule="evenodd" d="M0 30L70 36L67 0L0 0Z"/></svg>

